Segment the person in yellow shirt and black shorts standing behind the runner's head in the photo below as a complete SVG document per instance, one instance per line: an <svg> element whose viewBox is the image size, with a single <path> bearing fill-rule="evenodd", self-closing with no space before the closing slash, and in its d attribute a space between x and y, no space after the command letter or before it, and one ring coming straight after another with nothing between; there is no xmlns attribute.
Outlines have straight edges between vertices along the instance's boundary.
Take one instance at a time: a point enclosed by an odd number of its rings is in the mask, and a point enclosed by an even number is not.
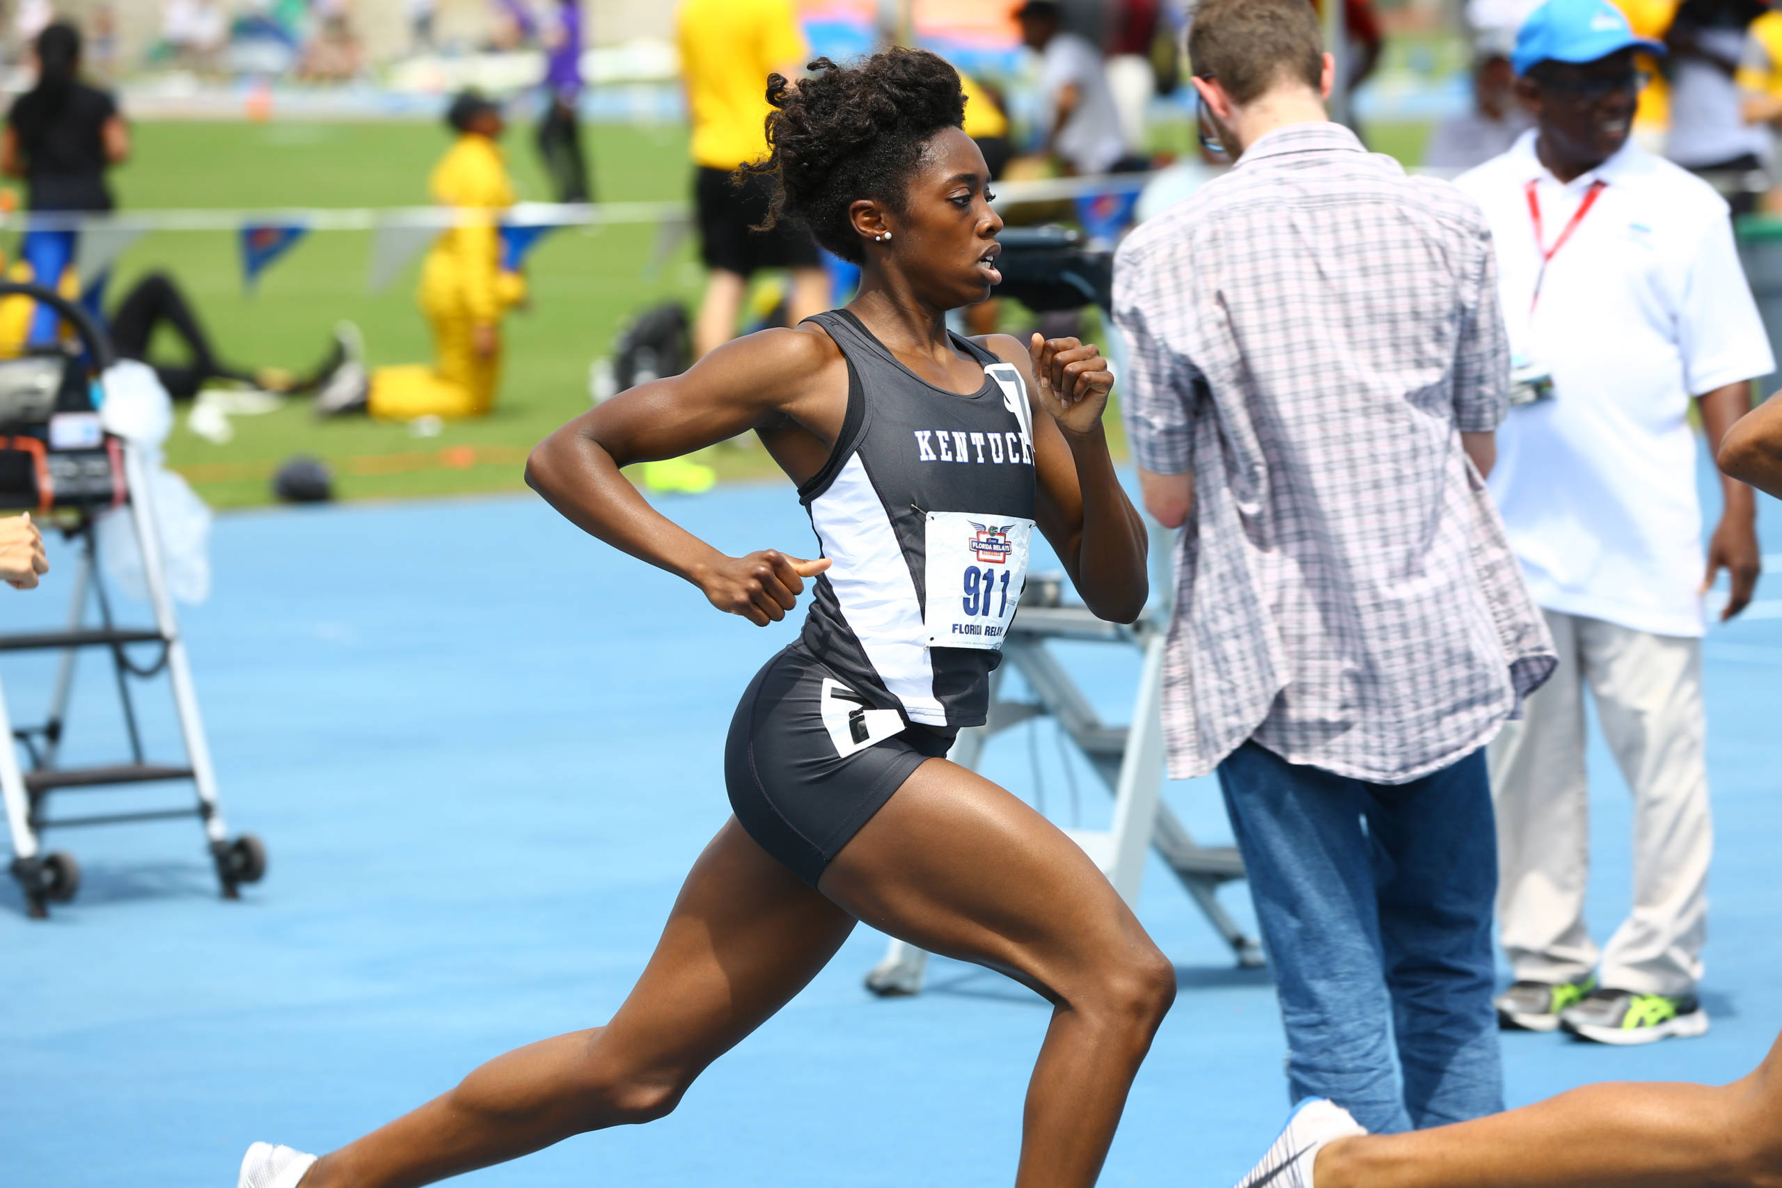
<svg viewBox="0 0 1782 1188"><path fill-rule="evenodd" d="M805 41L791 0L681 0L675 43L688 116L693 121L693 205L700 258L711 269L693 321L693 353L736 337L748 276L791 269L788 321L798 324L829 308L829 274L816 244L784 223L768 232L768 178L732 182L738 166L768 155L768 75L797 78Z"/></svg>

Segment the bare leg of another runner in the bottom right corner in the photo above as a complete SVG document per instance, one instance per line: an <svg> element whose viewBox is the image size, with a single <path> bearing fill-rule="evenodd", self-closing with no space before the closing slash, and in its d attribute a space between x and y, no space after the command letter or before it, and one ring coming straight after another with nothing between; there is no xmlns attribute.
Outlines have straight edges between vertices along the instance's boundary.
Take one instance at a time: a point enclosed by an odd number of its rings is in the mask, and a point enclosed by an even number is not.
<svg viewBox="0 0 1782 1188"><path fill-rule="evenodd" d="M1723 1086L1586 1085L1474 1122L1338 1138L1317 1188L1773 1188L1782 1040Z"/></svg>

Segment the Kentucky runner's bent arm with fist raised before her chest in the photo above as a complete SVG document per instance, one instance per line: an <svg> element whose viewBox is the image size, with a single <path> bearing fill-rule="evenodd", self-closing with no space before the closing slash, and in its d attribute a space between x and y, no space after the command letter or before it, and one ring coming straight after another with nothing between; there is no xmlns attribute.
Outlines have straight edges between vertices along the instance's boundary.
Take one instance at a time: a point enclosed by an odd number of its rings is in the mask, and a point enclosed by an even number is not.
<svg viewBox="0 0 1782 1188"><path fill-rule="evenodd" d="M1091 611L1130 623L1149 595L1144 518L1114 476L1101 413L1114 374L1094 344L1021 342L987 335L984 346L1021 369L1034 406L1039 531L1064 561Z"/></svg>

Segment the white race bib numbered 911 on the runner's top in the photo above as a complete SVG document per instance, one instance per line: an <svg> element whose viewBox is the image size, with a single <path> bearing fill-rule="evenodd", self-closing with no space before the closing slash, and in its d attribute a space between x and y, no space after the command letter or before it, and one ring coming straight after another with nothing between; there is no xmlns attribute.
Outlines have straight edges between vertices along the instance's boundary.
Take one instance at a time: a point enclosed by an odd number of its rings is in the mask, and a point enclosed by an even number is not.
<svg viewBox="0 0 1782 1188"><path fill-rule="evenodd" d="M1001 648L1026 586L1034 522L966 511L930 511L927 533L930 648Z"/></svg>

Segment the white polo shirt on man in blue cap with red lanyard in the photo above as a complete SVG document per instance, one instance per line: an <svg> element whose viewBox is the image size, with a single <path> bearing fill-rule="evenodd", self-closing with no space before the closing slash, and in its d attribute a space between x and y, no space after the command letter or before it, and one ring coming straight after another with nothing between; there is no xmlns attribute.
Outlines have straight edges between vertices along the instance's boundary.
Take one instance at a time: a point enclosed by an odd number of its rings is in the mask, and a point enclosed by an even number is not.
<svg viewBox="0 0 1782 1188"><path fill-rule="evenodd" d="M1540 606L1700 636L1689 399L1775 369L1727 203L1632 141L1561 185L1534 137L1456 180L1492 224L1511 353L1549 369L1556 392L1513 408L1497 431L1492 495ZM1598 180L1541 278L1543 246Z"/></svg>

